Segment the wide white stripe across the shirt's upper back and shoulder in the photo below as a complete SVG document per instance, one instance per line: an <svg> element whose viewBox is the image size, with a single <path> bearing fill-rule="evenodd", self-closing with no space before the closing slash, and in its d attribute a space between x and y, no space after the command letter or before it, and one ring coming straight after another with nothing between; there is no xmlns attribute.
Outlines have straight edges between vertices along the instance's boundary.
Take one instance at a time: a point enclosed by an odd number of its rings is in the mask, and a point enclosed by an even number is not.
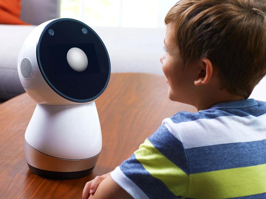
<svg viewBox="0 0 266 199"><path fill-rule="evenodd" d="M180 123L173 123L169 118L164 119L164 125L177 139L182 138L185 149L266 139L266 114L220 116Z"/></svg>

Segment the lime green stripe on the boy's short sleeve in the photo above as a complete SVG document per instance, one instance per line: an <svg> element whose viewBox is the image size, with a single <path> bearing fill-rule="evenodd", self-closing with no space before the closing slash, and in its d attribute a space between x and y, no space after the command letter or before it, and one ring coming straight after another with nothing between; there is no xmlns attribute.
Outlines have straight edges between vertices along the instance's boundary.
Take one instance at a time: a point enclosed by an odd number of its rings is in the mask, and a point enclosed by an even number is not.
<svg viewBox="0 0 266 199"><path fill-rule="evenodd" d="M134 154L145 170L160 179L173 194L186 195L189 176L161 154L148 139Z"/></svg>

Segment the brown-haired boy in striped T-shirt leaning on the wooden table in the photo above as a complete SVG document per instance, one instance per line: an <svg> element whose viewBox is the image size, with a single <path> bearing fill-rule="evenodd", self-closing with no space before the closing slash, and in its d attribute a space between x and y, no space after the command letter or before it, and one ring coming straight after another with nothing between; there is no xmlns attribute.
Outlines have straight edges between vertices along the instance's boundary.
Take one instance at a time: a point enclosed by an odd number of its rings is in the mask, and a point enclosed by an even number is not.
<svg viewBox="0 0 266 199"><path fill-rule="evenodd" d="M266 102L248 98L266 74L266 1L180 0L165 23L168 97L199 111L164 119L82 198L266 198Z"/></svg>

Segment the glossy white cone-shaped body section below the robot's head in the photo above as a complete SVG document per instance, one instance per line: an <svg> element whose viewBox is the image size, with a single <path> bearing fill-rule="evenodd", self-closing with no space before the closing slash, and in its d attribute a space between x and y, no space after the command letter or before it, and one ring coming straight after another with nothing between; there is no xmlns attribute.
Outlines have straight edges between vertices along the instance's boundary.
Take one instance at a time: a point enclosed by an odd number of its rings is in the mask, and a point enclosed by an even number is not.
<svg viewBox="0 0 266 199"><path fill-rule="evenodd" d="M69 106L38 104L25 132L34 149L63 159L85 159L100 153L102 134L93 103Z"/></svg>

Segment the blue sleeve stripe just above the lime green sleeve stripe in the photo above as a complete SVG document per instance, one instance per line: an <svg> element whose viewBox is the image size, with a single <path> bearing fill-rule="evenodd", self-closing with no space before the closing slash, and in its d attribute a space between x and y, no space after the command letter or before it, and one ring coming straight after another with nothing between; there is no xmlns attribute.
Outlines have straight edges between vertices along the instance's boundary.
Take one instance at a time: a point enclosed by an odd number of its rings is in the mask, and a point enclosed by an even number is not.
<svg viewBox="0 0 266 199"><path fill-rule="evenodd" d="M186 154L182 142L171 134L166 126L160 126L147 138L165 157L171 160L186 174L189 174Z"/></svg>

